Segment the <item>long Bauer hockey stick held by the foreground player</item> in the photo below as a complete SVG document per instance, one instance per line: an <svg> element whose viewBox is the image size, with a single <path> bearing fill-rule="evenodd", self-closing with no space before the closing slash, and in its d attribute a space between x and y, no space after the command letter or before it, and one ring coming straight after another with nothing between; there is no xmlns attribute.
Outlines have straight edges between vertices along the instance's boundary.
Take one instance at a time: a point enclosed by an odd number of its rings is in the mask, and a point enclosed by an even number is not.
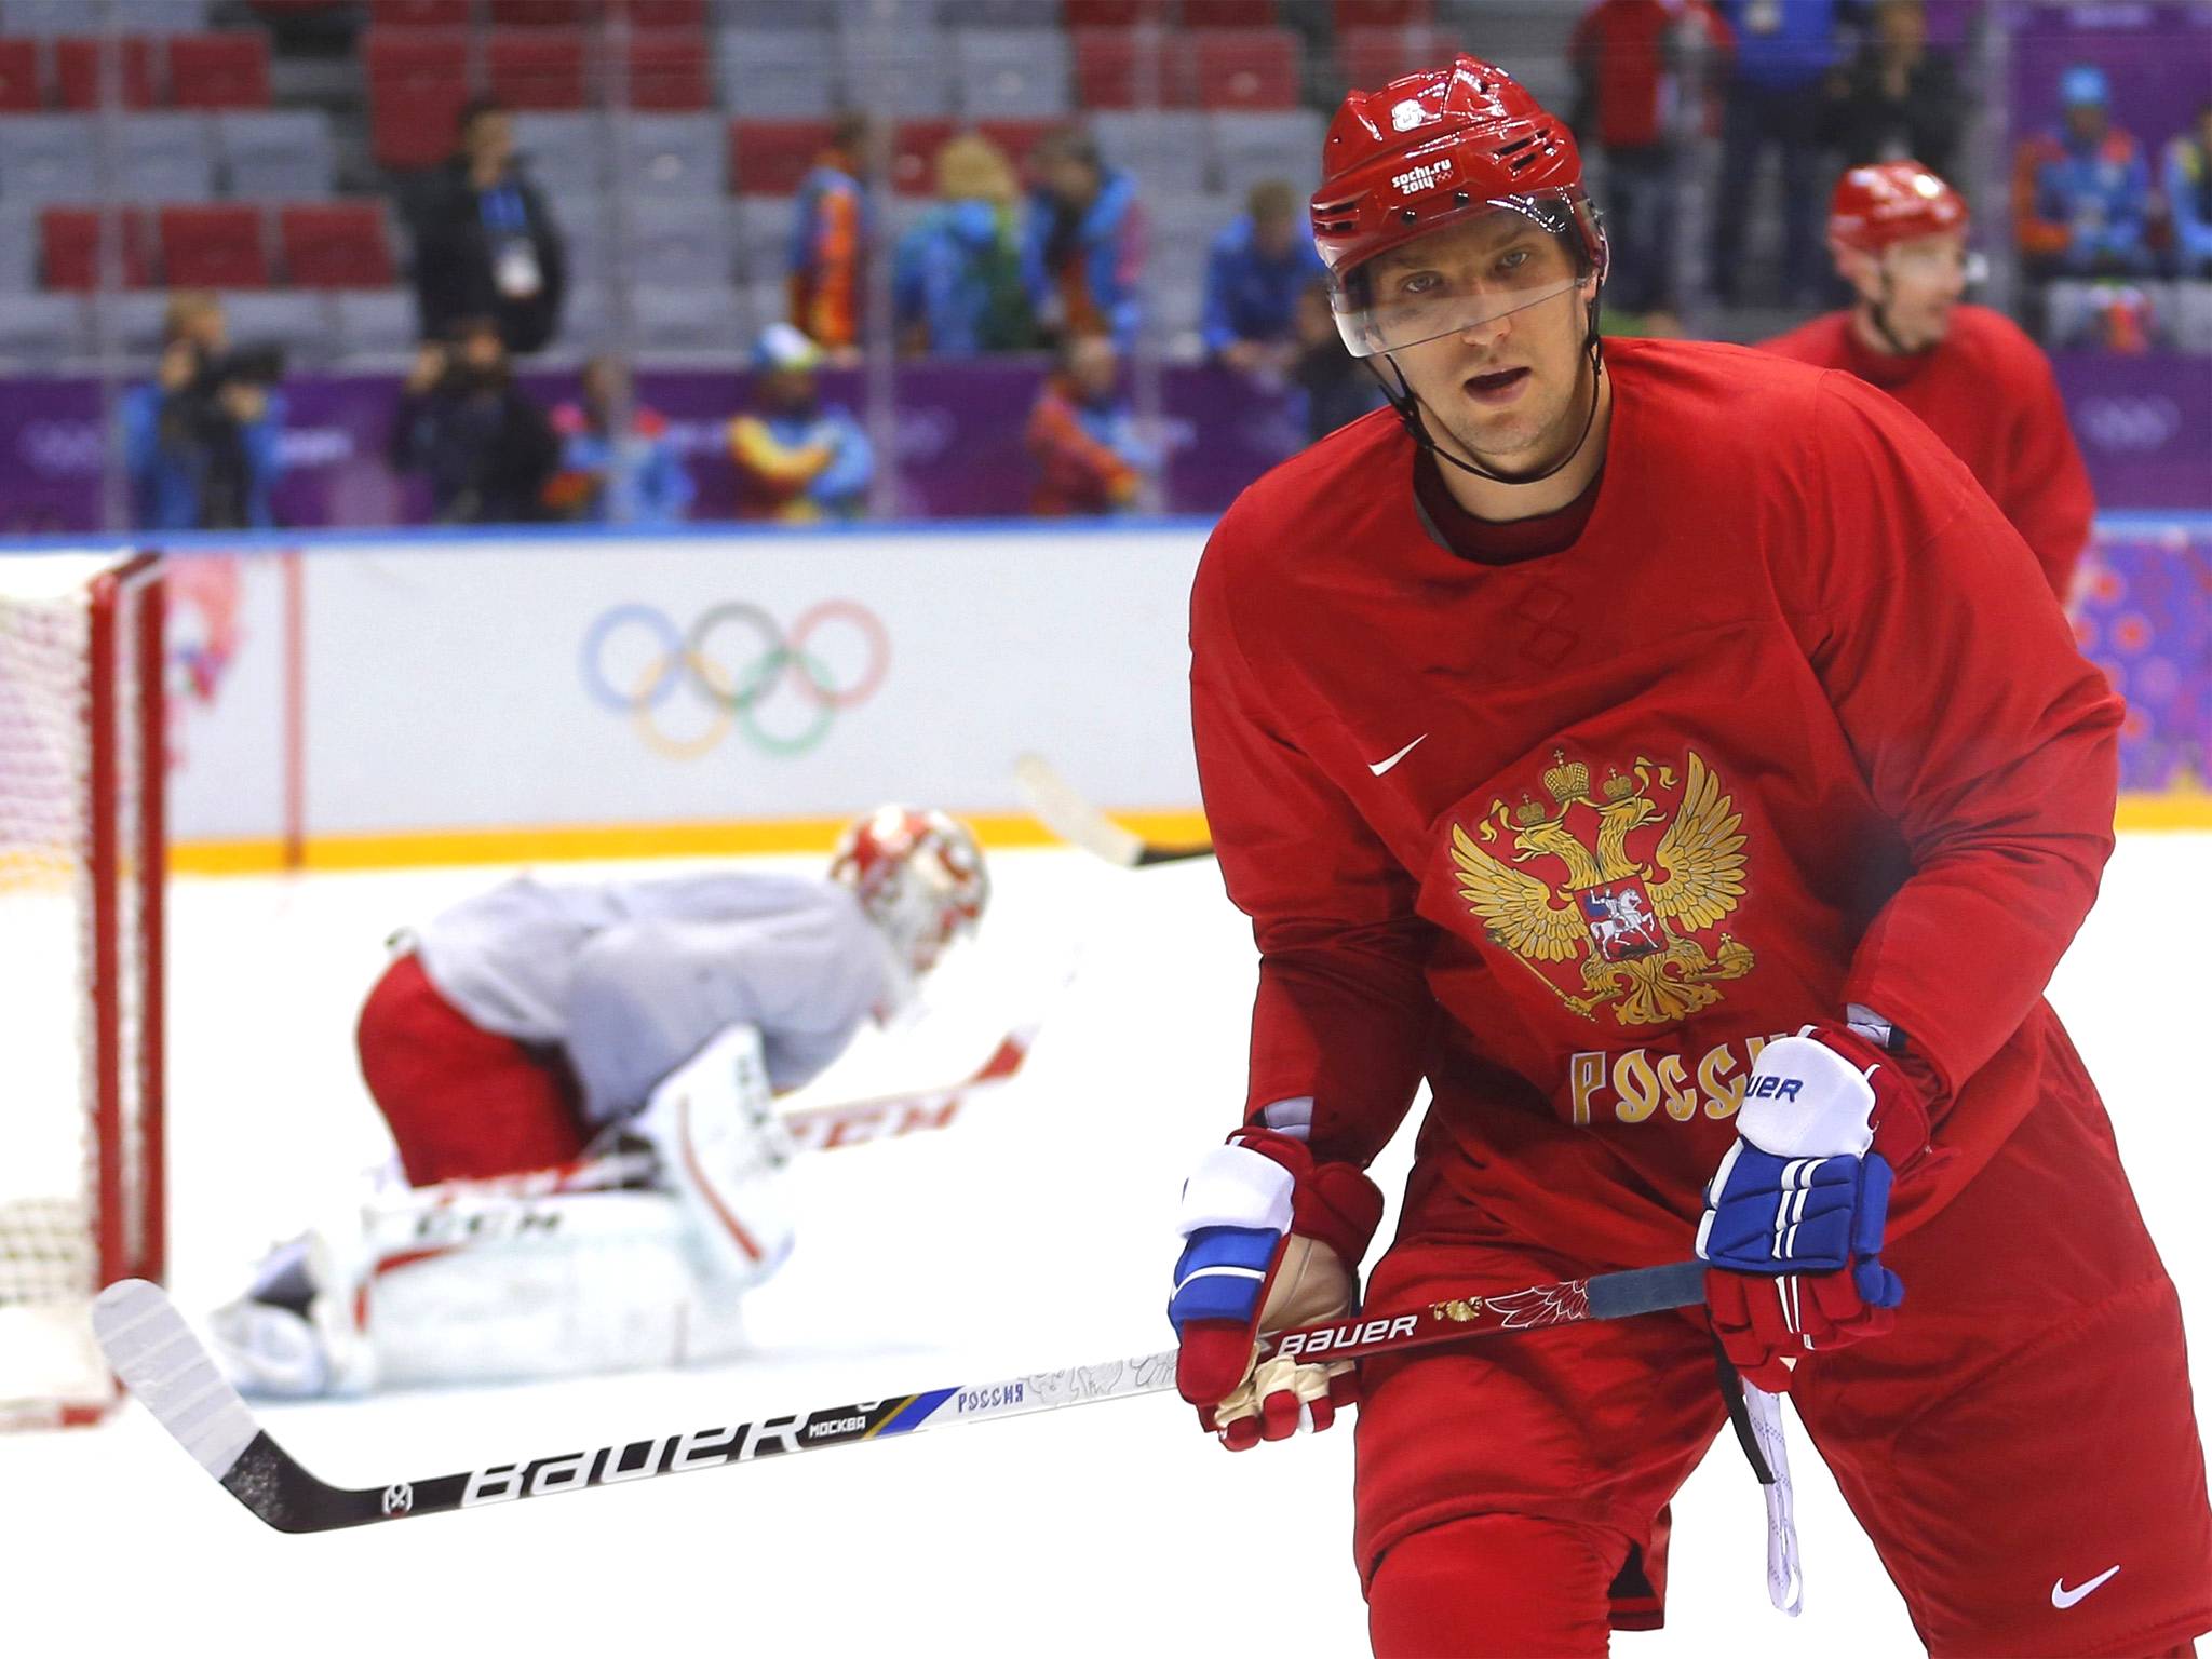
<svg viewBox="0 0 2212 1659"><path fill-rule="evenodd" d="M1436 1343L1455 1343L1495 1332L1575 1325L1586 1318L1628 1318L1663 1307L1690 1307L1705 1298L1705 1265L1679 1261L1666 1267L1571 1279L1535 1285L1511 1296L1467 1296L1433 1303L1418 1314L1352 1316L1327 1325L1283 1332L1270 1343L1276 1354L1327 1354L1356 1360L1402 1354ZM438 1515L480 1509L513 1498L544 1498L628 1480L679 1475L752 1462L785 1451L847 1447L887 1440L922 1429L958 1427L1053 1411L1064 1405L1124 1400L1175 1387L1175 1349L1104 1365L1073 1365L1060 1371L1000 1378L967 1387L929 1389L896 1400L860 1400L785 1418L717 1425L690 1433L666 1433L617 1447L562 1451L524 1462L493 1462L431 1480L394 1480L387 1486L332 1486L316 1480L254 1422L239 1391L223 1380L208 1349L159 1285L124 1279L100 1292L93 1329L108 1365L153 1411L168 1433L215 1475L232 1498L281 1533L325 1533L376 1520Z"/></svg>

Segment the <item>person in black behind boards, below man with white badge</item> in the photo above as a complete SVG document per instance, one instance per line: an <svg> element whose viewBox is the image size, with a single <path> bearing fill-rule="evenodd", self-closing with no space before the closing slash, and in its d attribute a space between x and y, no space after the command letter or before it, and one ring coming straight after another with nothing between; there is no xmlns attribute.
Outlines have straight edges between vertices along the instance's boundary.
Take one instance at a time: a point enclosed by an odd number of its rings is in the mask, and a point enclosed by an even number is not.
<svg viewBox="0 0 2212 1659"><path fill-rule="evenodd" d="M560 438L515 385L498 319L471 316L416 354L392 422L392 469L429 478L440 524L546 518Z"/></svg>

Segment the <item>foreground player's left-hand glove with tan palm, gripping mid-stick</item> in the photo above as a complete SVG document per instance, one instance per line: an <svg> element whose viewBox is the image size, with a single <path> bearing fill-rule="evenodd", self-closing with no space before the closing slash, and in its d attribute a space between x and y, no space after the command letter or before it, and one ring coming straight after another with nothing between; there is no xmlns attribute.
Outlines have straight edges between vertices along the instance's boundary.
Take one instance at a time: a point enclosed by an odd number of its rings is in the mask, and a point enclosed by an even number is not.
<svg viewBox="0 0 2212 1659"><path fill-rule="evenodd" d="M1374 1181L1267 1128L1237 1130L1183 1183L1175 1387L1230 1451L1327 1429L1358 1400L1349 1360L1256 1363L1259 1338L1349 1314L1378 1221Z"/></svg>

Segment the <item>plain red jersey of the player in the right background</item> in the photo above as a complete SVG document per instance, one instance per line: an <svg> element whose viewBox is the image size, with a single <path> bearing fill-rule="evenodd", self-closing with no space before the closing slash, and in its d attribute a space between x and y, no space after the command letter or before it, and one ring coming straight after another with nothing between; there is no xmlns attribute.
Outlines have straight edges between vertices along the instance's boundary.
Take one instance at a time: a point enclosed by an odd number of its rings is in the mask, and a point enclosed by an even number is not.
<svg viewBox="0 0 2212 1659"><path fill-rule="evenodd" d="M1761 349L1849 369L1927 420L2013 520L2064 604L2097 500L2051 358L2008 316L1960 305L1942 345L1889 356L1858 338L1849 312L1829 312Z"/></svg>

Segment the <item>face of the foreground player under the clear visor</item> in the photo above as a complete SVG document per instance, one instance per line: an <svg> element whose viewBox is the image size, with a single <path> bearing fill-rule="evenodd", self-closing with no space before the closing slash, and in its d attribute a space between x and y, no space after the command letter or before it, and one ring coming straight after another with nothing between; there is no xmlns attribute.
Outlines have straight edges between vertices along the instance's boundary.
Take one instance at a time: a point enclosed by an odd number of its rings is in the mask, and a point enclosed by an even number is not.
<svg viewBox="0 0 2212 1659"><path fill-rule="evenodd" d="M1391 356L1440 440L1478 462L1542 465L1577 440L1588 398L1582 376L1590 285L1575 281L1559 239L1517 212L1495 212L1383 254L1376 285L1480 290L1498 272L1522 292L1557 292Z"/></svg>

